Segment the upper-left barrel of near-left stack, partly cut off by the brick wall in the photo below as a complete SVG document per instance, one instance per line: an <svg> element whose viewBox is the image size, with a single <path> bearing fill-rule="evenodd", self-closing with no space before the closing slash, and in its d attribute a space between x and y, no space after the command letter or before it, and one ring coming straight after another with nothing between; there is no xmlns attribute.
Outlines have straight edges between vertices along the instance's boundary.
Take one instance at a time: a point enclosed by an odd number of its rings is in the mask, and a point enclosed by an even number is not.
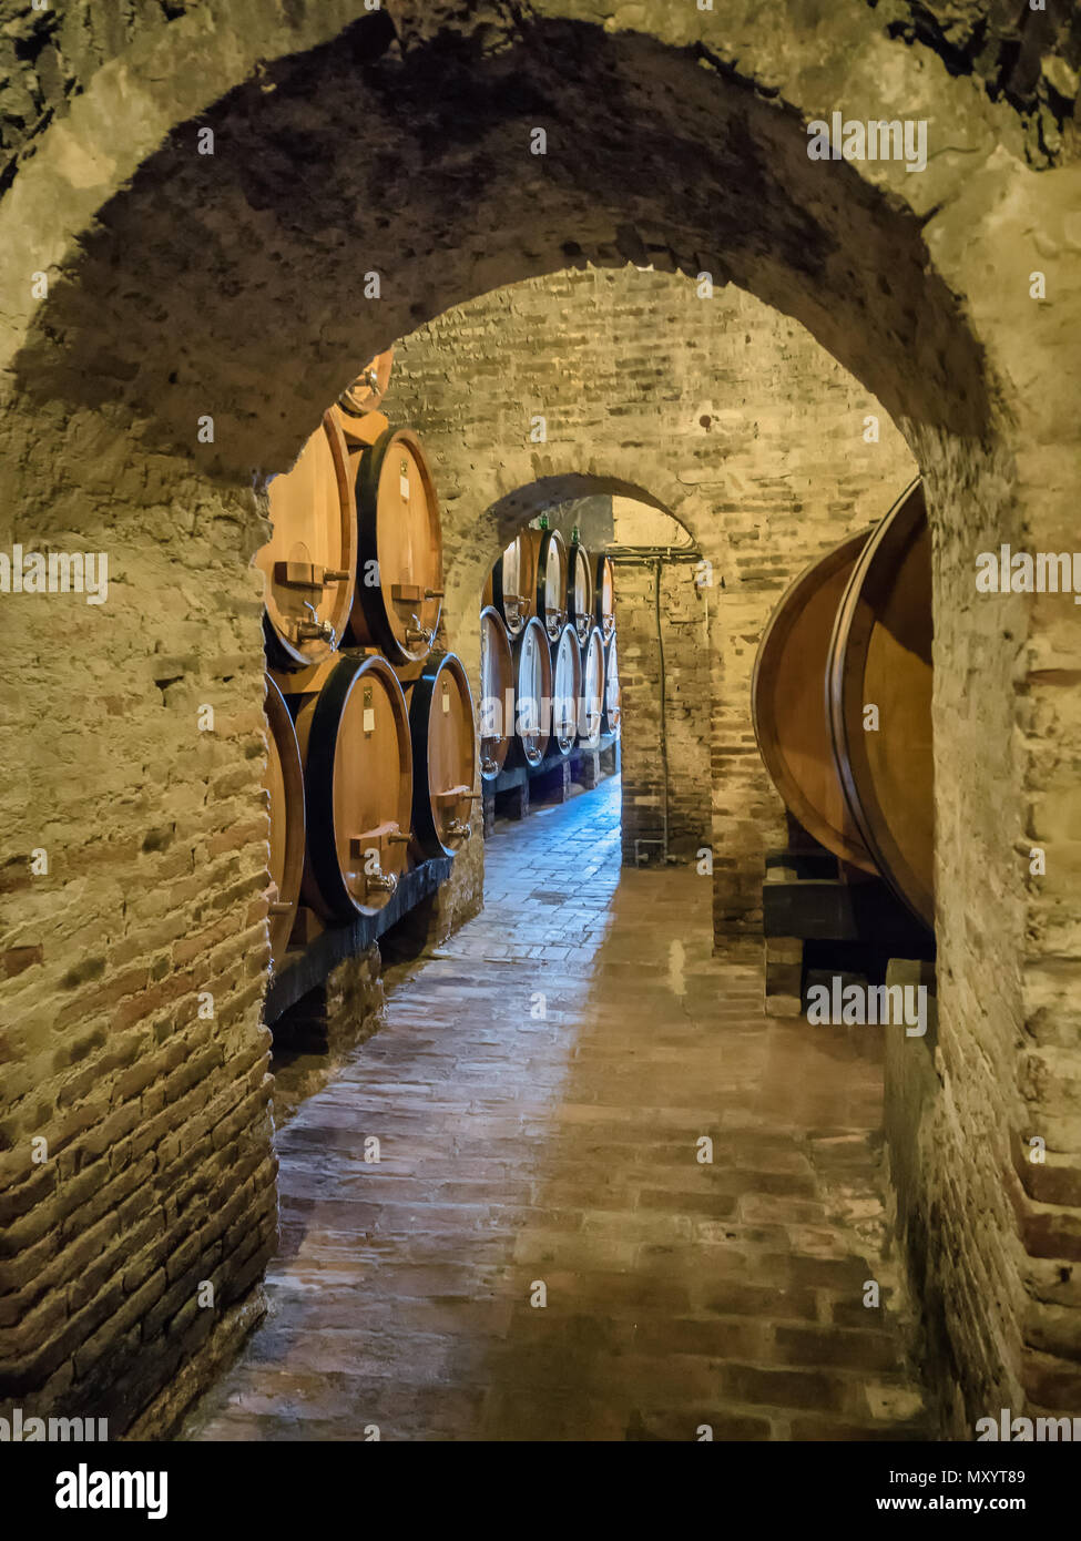
<svg viewBox="0 0 1081 1541"><path fill-rule="evenodd" d="M267 578L267 650L282 669L318 664L341 644L356 575L356 505L330 413L267 493L274 533L256 553Z"/></svg>

